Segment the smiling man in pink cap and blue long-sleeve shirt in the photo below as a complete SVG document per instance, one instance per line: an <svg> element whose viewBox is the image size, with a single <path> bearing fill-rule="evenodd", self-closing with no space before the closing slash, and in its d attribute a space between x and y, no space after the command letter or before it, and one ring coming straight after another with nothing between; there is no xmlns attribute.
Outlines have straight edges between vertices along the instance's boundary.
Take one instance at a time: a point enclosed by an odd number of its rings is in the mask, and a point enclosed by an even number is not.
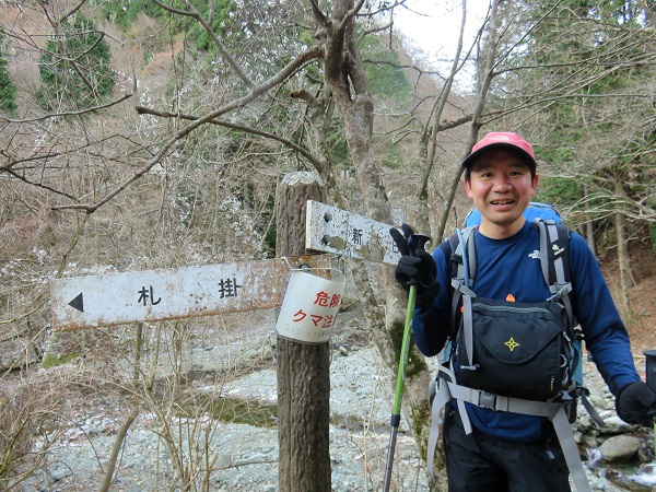
<svg viewBox="0 0 656 492"><path fill-rule="evenodd" d="M462 166L467 197L481 213L481 224L470 238L476 245L476 295L517 303L546 301L550 292L536 254L540 250L539 231L523 216L538 185L532 147L516 133L492 132L473 147ZM399 250L406 253L395 273L406 289L417 285L414 340L432 356L443 349L453 329L449 259L442 248L433 255L423 249L412 251L412 232L408 226L405 232L405 241L400 234L395 238ZM616 396L618 414L629 423L649 425L656 413L656 394L641 382L626 329L597 261L575 233L571 234L569 257L574 314L587 350ZM571 490L566 462L546 418L471 403L464 408L472 426L469 434L458 406L452 401L445 410L449 491Z"/></svg>

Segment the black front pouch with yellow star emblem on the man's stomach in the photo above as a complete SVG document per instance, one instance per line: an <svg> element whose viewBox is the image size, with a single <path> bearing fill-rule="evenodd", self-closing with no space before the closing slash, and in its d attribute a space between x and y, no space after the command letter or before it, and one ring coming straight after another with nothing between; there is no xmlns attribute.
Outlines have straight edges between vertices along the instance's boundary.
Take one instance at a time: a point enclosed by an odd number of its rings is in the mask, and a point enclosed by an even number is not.
<svg viewBox="0 0 656 492"><path fill-rule="evenodd" d="M564 308L464 296L458 382L484 391L550 400L572 385Z"/></svg>

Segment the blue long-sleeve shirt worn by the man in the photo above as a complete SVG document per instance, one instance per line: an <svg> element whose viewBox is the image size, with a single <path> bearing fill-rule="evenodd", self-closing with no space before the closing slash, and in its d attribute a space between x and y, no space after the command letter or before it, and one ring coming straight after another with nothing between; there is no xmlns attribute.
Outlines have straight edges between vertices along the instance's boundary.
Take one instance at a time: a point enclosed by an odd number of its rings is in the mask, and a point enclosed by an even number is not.
<svg viewBox="0 0 656 492"><path fill-rule="evenodd" d="M504 239L491 239L477 231L477 271L473 291L479 297L517 302L541 302L549 297L539 259L539 231L526 222L522 230ZM470 239L471 241L471 239ZM586 349L593 354L610 391L640 380L633 363L626 329L612 301L597 260L585 239L572 233L570 238L572 304L581 325ZM450 333L450 267L442 248L435 248L440 292L434 302L417 307L412 328L418 348L424 355L436 355ZM530 415L496 412L467 405L471 423L480 431L514 442L532 442L541 436L543 420Z"/></svg>

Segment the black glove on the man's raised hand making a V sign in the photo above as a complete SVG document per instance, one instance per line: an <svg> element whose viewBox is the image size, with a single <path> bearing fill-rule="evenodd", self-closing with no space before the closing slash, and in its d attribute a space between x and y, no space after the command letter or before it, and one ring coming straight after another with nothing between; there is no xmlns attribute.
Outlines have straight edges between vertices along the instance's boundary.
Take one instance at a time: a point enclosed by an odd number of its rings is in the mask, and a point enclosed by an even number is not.
<svg viewBox="0 0 656 492"><path fill-rule="evenodd" d="M437 266L431 254L424 248L431 238L414 234L408 224L401 225L401 229L403 235L395 227L389 230L389 234L401 254L394 276L406 292L410 290L410 285L417 285L418 304L431 302L440 291L440 283L435 280Z"/></svg>

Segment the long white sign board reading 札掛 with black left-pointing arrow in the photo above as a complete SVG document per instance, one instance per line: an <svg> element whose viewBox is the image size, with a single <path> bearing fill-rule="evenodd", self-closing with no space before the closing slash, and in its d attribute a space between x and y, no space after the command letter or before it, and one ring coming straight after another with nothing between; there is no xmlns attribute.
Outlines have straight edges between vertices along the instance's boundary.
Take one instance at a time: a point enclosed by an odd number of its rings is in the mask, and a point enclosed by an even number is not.
<svg viewBox="0 0 656 492"><path fill-rule="evenodd" d="M277 307L291 268L326 255L54 280L55 329L73 330Z"/></svg>

